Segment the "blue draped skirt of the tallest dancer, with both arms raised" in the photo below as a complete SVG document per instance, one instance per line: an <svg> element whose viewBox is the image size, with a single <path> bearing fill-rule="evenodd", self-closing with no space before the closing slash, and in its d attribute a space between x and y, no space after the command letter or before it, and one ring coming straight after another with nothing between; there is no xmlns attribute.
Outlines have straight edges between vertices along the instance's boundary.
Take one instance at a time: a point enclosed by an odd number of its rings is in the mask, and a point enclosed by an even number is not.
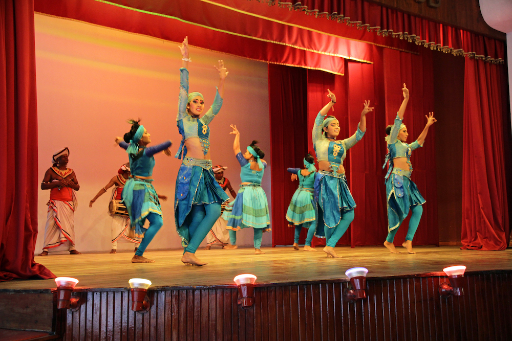
<svg viewBox="0 0 512 341"><path fill-rule="evenodd" d="M223 203L229 197L215 180L210 160L190 157L183 159L178 171L174 196L174 218L181 245L187 247L190 237L188 228L183 226L185 218L194 204Z"/></svg>

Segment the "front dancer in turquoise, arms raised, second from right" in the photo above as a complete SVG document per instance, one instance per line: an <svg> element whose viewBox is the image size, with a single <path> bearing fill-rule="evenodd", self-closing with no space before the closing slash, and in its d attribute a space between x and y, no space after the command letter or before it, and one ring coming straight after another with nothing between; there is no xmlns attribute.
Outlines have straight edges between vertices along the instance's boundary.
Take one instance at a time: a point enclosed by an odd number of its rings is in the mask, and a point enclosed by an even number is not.
<svg viewBox="0 0 512 341"><path fill-rule="evenodd" d="M347 150L361 140L366 131L366 114L373 111L370 101L365 101L357 131L350 138L336 140L339 122L334 116L327 116L336 103L336 96L329 89L331 100L316 116L313 126L313 144L318 160L319 176L315 179L315 199L318 200L318 220L316 236L326 238L324 252L327 257L339 258L334 246L354 220L355 202L345 177L343 160Z"/></svg>

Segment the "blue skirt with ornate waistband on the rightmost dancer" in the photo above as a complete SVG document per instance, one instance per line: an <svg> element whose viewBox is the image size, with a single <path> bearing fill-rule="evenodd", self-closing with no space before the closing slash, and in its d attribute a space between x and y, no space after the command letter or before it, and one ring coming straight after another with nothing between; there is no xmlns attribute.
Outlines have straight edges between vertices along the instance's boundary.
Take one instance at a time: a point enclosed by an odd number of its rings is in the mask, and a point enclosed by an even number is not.
<svg viewBox="0 0 512 341"><path fill-rule="evenodd" d="M411 172L395 168L386 179L388 232L400 226L402 220L409 214L411 206L426 202L410 176Z"/></svg>

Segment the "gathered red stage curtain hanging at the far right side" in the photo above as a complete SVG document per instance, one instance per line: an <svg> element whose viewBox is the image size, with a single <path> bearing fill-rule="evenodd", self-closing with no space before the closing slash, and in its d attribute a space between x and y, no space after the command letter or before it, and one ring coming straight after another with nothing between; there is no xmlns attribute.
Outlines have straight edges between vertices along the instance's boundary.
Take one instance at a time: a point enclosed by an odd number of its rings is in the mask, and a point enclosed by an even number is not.
<svg viewBox="0 0 512 341"><path fill-rule="evenodd" d="M509 231L503 67L467 59L464 69L462 248L503 250ZM505 103L504 103L505 102ZM509 126L506 128L509 129Z"/></svg>

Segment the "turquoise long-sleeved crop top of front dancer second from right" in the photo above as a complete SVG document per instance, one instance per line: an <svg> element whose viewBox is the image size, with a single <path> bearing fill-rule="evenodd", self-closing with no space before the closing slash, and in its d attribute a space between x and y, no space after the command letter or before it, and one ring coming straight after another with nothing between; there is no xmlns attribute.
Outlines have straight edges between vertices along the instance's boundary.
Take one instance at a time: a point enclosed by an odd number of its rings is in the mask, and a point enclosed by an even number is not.
<svg viewBox="0 0 512 341"><path fill-rule="evenodd" d="M347 150L352 148L357 141L361 140L365 132L359 129L358 124L357 131L350 138L331 141L322 133L323 122L324 116L320 115L320 112L318 112L313 126L313 145L316 158L318 161L328 161L331 164L343 165L343 160L345 160L347 156Z"/></svg>

